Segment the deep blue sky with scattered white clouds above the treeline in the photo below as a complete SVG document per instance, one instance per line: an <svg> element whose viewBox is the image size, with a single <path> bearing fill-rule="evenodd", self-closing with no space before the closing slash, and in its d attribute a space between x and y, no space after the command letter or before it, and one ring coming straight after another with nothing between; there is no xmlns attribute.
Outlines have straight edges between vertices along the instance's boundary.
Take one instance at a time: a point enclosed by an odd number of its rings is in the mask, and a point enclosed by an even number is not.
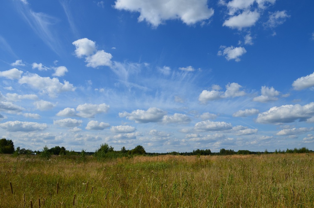
<svg viewBox="0 0 314 208"><path fill-rule="evenodd" d="M0 136L40 151L313 150L313 8L2 1Z"/></svg>

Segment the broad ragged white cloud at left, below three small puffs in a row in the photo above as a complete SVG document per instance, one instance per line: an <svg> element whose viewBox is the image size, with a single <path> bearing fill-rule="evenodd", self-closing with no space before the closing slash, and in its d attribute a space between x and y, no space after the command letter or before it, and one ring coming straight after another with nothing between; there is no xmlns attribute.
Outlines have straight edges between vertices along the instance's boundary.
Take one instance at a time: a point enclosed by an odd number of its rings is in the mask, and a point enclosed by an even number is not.
<svg viewBox="0 0 314 208"><path fill-rule="evenodd" d="M28 74L19 79L20 84L28 84L31 87L48 93L50 97L56 97L57 93L74 91L75 87L68 81L60 83L58 78L40 77L38 74Z"/></svg>

